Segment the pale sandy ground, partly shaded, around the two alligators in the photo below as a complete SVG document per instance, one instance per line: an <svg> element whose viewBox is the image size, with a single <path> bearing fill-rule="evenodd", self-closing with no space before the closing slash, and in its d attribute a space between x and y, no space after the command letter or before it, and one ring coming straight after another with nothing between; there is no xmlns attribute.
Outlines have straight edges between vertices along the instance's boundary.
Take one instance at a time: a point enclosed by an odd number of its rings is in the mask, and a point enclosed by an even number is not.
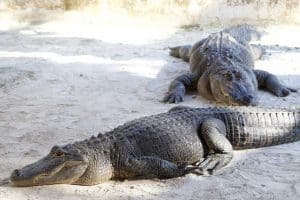
<svg viewBox="0 0 300 200"><path fill-rule="evenodd" d="M66 28L68 29L68 28ZM167 111L160 102L188 64L166 47L218 29L142 29L87 37L27 27L0 32L0 179L66 144ZM299 26L269 26L261 43L300 46ZM140 31L140 32L139 32ZM159 34L163 32L162 34ZM72 33L72 34L71 34ZM134 32L128 32L133 34ZM97 36L97 37L95 37ZM109 37L111 36L111 37ZM282 48L284 49L284 48ZM257 68L300 89L300 52L269 50ZM259 92L260 105L300 104L300 93ZM181 105L214 105L195 94ZM300 143L235 152L222 175L110 181L96 186L0 187L0 199L300 199Z"/></svg>

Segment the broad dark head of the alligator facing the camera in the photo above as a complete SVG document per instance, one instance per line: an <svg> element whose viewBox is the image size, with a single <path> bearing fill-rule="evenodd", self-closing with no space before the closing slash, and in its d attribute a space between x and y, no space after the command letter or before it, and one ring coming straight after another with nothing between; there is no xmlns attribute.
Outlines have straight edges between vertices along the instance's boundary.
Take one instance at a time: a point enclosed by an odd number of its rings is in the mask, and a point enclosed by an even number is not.
<svg viewBox="0 0 300 200"><path fill-rule="evenodd" d="M251 71L220 66L209 74L210 91L217 102L257 105L257 80Z"/></svg>

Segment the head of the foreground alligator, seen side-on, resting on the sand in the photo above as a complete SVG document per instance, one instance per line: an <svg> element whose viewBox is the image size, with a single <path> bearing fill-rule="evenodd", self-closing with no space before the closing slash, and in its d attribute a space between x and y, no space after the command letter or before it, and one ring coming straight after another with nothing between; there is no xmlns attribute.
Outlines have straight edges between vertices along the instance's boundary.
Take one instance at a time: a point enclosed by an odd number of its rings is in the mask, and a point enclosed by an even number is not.
<svg viewBox="0 0 300 200"><path fill-rule="evenodd" d="M72 146L54 146L39 161L16 169L10 180L14 186L73 184L87 170L87 158Z"/></svg>

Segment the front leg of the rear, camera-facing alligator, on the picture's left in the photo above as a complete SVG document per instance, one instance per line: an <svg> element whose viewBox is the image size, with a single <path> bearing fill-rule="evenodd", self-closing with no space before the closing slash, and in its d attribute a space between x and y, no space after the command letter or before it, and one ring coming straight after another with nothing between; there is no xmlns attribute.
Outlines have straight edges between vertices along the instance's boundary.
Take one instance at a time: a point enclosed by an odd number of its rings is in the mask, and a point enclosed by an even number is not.
<svg viewBox="0 0 300 200"><path fill-rule="evenodd" d="M195 74L187 73L177 77L170 84L169 91L163 102L179 103L183 101L186 90L196 90L198 77Z"/></svg>

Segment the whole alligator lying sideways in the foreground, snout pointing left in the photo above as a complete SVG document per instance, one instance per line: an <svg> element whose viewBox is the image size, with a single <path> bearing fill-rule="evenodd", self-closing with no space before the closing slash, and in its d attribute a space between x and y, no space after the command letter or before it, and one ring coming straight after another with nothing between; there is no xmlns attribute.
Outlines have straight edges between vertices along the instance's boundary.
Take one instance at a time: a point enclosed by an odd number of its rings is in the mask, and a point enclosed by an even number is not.
<svg viewBox="0 0 300 200"><path fill-rule="evenodd" d="M299 108L177 106L97 137L54 146L14 170L13 186L94 185L108 180L222 172L233 150L300 140Z"/></svg>

